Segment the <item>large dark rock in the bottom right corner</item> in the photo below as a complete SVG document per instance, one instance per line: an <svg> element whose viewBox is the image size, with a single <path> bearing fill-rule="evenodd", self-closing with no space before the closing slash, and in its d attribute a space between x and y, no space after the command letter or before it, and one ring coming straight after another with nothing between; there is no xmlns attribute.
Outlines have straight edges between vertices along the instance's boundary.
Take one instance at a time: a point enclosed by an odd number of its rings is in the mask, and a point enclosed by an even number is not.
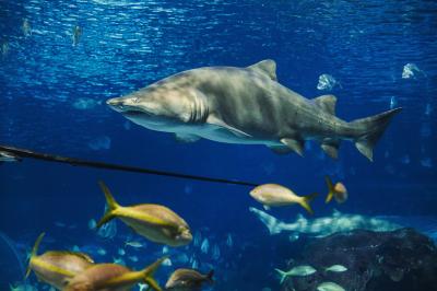
<svg viewBox="0 0 437 291"><path fill-rule="evenodd" d="M356 291L420 291L435 290L437 286L437 247L413 229L355 230L314 238L293 265L296 264L311 265L318 271L288 277L283 291L314 291L326 281ZM333 264L347 270L327 272L326 267Z"/></svg>

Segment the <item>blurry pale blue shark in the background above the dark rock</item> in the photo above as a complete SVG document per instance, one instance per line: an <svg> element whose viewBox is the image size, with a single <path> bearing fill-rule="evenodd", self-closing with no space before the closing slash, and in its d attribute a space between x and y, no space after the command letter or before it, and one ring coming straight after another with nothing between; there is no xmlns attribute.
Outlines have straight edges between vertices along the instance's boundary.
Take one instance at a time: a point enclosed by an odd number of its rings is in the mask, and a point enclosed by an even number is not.
<svg viewBox="0 0 437 291"><path fill-rule="evenodd" d="M338 210L333 210L333 213L330 217L321 217L311 220L298 214L297 219L290 223L281 221L265 211L253 207L250 207L249 211L255 213L257 218L268 228L270 235L280 234L282 232L291 232L295 235L295 240L297 240L298 234L302 233L310 236L324 237L336 232L350 232L357 229L386 232L403 228L401 224L393 223L385 219L361 214L341 213Z"/></svg>

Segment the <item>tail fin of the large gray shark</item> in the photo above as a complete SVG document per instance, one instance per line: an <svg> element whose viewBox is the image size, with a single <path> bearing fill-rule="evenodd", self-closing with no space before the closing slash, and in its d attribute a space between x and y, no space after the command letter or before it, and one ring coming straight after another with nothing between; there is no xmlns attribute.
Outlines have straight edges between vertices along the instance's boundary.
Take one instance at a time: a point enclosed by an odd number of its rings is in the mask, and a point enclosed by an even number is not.
<svg viewBox="0 0 437 291"><path fill-rule="evenodd" d="M381 138L390 119L400 113L402 108L394 108L375 116L351 121L350 125L357 130L355 147L370 161L374 161L374 147Z"/></svg>

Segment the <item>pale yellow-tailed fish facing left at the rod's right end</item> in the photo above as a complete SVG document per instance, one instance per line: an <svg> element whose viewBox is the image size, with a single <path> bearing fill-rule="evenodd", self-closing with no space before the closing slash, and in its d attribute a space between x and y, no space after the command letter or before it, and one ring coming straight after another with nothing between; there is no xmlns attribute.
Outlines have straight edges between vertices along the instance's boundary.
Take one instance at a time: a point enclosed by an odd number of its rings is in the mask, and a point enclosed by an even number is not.
<svg viewBox="0 0 437 291"><path fill-rule="evenodd" d="M291 189L277 184L260 185L250 191L250 196L267 208L297 203L305 208L310 214L314 214L314 211L309 202L317 195L317 193L314 193L307 196L297 196Z"/></svg>

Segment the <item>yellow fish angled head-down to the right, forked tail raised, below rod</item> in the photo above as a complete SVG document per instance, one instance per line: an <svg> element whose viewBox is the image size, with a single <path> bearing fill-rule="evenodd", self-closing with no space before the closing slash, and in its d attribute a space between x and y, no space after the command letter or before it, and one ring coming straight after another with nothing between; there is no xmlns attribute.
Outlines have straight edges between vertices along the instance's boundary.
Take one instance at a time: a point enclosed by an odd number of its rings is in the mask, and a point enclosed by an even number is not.
<svg viewBox="0 0 437 291"><path fill-rule="evenodd" d="M138 234L155 243L181 246L192 241L191 231L187 222L167 207L146 203L122 207L116 202L103 182L98 184L105 194L108 211L96 228L102 226L114 218L119 218Z"/></svg>

